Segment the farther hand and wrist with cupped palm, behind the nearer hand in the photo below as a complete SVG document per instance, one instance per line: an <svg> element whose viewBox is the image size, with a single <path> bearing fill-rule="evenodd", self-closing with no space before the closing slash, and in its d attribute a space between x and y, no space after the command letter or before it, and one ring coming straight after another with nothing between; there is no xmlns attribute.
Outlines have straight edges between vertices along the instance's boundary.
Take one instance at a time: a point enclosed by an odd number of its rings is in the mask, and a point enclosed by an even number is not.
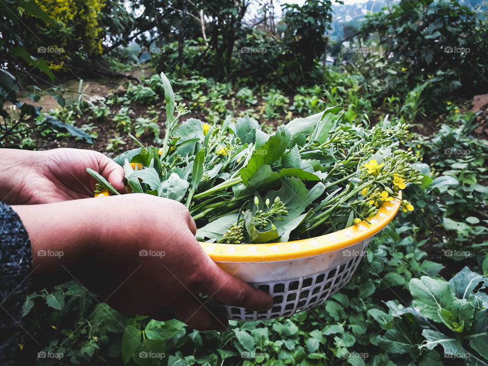
<svg viewBox="0 0 488 366"><path fill-rule="evenodd" d="M58 148L47 151L1 149L0 200L9 204L41 204L93 197L97 181L92 168L120 193L124 169L93 150Z"/></svg>

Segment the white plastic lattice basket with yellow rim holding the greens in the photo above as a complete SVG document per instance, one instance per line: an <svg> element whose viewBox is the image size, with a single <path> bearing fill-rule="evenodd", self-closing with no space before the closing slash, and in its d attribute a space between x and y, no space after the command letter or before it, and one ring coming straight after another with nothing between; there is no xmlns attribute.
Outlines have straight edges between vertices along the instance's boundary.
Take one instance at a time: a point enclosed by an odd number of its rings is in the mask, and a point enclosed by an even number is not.
<svg viewBox="0 0 488 366"><path fill-rule="evenodd" d="M385 202L370 224L363 221L315 238L239 245L200 242L222 269L273 297L268 311L218 301L212 307L231 320L257 321L290 317L320 305L349 282L372 237L396 215L400 199Z"/></svg>

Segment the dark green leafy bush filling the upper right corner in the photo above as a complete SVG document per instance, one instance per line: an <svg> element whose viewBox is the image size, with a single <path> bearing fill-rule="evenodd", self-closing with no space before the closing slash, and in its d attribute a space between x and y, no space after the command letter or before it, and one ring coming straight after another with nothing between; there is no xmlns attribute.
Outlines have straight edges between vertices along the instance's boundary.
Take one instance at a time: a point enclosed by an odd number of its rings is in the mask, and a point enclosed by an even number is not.
<svg viewBox="0 0 488 366"><path fill-rule="evenodd" d="M379 35L379 44L386 48L382 62L402 66L402 73L400 68L393 71L396 80L388 78L389 88L400 96L430 80L426 99L435 108L446 93L461 87L476 87L480 92L486 88L486 80L479 77L486 70L480 59L486 20L457 0L403 0L391 10L367 17L361 35L370 34Z"/></svg>

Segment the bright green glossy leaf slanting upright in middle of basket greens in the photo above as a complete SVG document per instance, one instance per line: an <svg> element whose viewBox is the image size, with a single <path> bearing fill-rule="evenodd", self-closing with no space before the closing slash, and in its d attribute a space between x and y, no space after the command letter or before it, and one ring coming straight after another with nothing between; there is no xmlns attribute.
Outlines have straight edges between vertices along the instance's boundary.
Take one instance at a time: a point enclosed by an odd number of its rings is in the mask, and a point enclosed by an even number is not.
<svg viewBox="0 0 488 366"><path fill-rule="evenodd" d="M271 165L280 159L289 142L289 131L285 127L279 126L275 135L271 136L264 145L253 151L247 166L240 169L239 173L244 184L248 185L249 179L262 165Z"/></svg>

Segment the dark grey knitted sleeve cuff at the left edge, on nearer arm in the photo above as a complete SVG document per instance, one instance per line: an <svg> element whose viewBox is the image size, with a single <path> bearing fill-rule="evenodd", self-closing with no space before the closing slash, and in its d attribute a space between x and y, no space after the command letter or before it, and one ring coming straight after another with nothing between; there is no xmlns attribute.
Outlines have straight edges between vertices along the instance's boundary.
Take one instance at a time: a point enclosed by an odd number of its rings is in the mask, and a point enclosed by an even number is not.
<svg viewBox="0 0 488 366"><path fill-rule="evenodd" d="M0 364L15 355L31 275L31 240L16 212L0 202Z"/></svg>

